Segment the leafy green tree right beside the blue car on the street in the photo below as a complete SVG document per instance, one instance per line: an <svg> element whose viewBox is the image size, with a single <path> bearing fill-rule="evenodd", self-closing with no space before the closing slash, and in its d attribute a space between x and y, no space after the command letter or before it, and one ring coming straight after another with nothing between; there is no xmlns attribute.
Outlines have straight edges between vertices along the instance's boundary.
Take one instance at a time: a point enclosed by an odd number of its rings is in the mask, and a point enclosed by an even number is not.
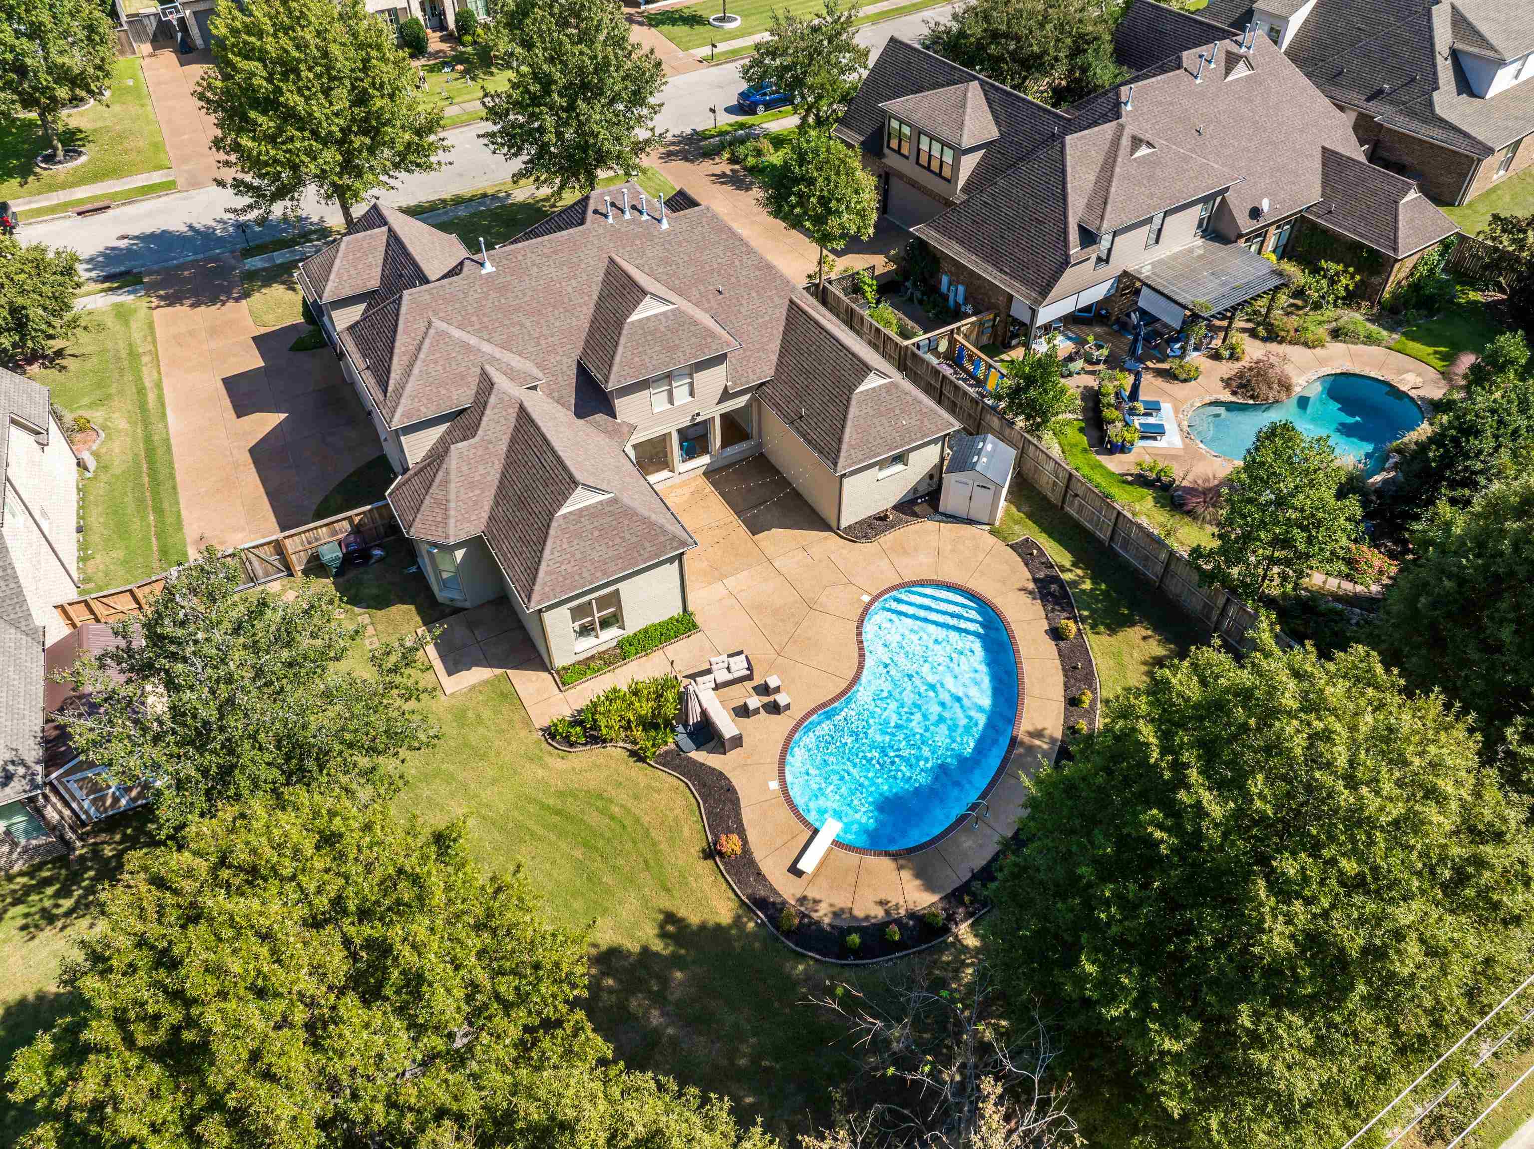
<svg viewBox="0 0 1534 1149"><path fill-rule="evenodd" d="M868 49L858 43L858 0L824 0L810 17L772 11L767 38L741 66L747 84L773 83L793 94L799 117L830 127L847 109L868 71Z"/></svg>

